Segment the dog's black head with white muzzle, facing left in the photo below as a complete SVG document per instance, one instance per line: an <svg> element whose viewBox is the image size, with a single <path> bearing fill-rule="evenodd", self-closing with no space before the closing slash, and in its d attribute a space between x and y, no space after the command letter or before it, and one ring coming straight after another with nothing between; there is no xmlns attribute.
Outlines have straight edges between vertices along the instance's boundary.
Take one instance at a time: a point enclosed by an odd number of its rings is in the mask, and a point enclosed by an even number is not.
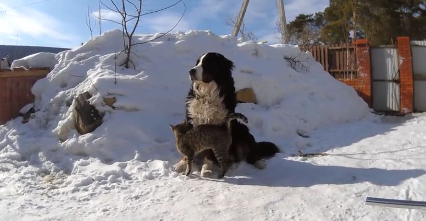
<svg viewBox="0 0 426 221"><path fill-rule="evenodd" d="M233 68L234 63L225 56L216 52L208 52L201 55L196 66L189 70L190 79L192 82L210 83L215 81L219 83L221 79L232 77Z"/></svg>

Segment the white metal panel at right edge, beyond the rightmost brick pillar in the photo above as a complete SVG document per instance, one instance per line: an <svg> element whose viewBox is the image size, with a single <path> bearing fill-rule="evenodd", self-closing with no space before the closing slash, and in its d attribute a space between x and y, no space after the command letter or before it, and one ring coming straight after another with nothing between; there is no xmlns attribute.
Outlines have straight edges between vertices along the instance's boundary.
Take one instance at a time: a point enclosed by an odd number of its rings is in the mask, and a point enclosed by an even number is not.
<svg viewBox="0 0 426 221"><path fill-rule="evenodd" d="M426 111L426 41L411 42L414 110Z"/></svg>

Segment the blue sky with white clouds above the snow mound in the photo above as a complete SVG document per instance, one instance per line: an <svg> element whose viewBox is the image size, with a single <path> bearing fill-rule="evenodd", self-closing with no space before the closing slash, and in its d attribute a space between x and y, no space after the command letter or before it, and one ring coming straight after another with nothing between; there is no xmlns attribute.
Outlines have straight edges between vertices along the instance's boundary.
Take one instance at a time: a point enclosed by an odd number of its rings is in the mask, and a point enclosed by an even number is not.
<svg viewBox="0 0 426 221"><path fill-rule="evenodd" d="M85 24L87 4L98 11L98 0L48 0L30 6L25 4L40 0L2 0L0 2L0 44L75 47L90 38ZM144 0L144 10L168 6L176 0ZM108 3L110 0L104 0ZM230 34L232 27L226 18L234 17L242 0L184 0L187 12L175 31L190 29L211 30L217 35ZM328 0L284 0L287 22L299 13L314 13L324 10ZM22 7L21 7L22 6ZM17 8L15 8L17 7ZM15 8L15 9L14 9ZM116 15L101 7L101 16L114 18ZM142 18L137 33L155 33L169 30L180 18L183 5L178 4L161 13ZM3 12L6 10L5 12ZM95 18L92 17L94 20ZM93 21L92 20L92 21ZM259 40L277 43L276 0L250 0L246 16L246 27ZM102 22L102 31L119 28L111 22ZM96 26L94 35L99 35Z"/></svg>

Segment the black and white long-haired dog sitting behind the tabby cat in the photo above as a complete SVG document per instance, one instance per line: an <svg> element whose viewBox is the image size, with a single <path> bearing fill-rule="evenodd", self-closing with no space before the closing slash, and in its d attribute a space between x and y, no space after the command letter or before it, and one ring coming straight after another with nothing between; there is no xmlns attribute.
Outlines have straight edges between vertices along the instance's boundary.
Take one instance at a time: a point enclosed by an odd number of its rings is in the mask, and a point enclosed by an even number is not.
<svg viewBox="0 0 426 221"><path fill-rule="evenodd" d="M192 81L186 99L186 119L192 126L200 124L222 124L228 113L237 105L232 70L234 63L219 53L209 52L198 58L196 66L189 70ZM263 159L279 153L271 142L256 142L249 128L234 120L232 122L232 144L230 157L233 163L245 160L258 169L264 169ZM209 177L217 160L211 150L195 157L194 169L201 167L201 176ZM186 170L186 158L175 165L177 172Z"/></svg>

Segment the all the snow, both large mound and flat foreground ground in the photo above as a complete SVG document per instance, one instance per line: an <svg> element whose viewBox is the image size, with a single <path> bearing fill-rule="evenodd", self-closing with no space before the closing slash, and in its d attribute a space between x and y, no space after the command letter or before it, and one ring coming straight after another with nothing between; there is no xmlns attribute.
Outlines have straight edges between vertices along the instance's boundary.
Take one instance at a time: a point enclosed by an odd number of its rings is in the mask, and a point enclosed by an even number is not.
<svg viewBox="0 0 426 221"><path fill-rule="evenodd" d="M134 42L158 35L137 35ZM32 88L35 117L0 126L1 221L424 218L414 210L368 207L364 200L426 200L426 115L373 115L353 88L297 47L209 31L134 46L135 68L118 67L115 84L114 56L122 41L122 32L113 30L73 50L12 64L53 70ZM266 170L241 163L220 180L173 170L181 155L168 125L183 120L187 71L207 51L234 61L236 89L255 90L258 105L241 104L236 111L248 117L256 140L281 148ZM305 68L291 68L284 57ZM84 91L105 116L99 128L80 135L72 101ZM117 98L115 109L104 97ZM329 155L292 156L298 150Z"/></svg>

